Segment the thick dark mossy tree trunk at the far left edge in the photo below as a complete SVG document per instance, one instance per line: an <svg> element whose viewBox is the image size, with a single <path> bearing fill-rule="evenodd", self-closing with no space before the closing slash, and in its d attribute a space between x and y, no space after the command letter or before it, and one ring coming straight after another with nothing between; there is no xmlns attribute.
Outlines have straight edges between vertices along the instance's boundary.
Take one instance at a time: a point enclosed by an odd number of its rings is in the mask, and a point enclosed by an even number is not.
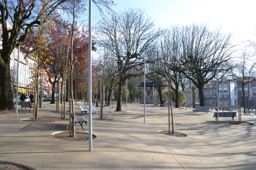
<svg viewBox="0 0 256 170"><path fill-rule="evenodd" d="M10 56L8 57L10 58ZM12 100L10 60L7 63L3 63L3 65L0 64L0 70L0 110L15 109Z"/></svg>

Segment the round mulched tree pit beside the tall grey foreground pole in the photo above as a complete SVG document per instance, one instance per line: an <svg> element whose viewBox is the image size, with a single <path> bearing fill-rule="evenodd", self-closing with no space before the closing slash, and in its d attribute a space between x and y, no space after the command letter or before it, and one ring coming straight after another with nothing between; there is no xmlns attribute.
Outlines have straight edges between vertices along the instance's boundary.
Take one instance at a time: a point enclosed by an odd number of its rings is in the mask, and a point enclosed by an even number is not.
<svg viewBox="0 0 256 170"><path fill-rule="evenodd" d="M52 135L52 137L55 137L60 140L68 140L68 141L86 141L89 140L89 134L84 132L76 132L76 137L69 136L69 132L60 132L55 133ZM92 139L95 139L96 135L92 134Z"/></svg>

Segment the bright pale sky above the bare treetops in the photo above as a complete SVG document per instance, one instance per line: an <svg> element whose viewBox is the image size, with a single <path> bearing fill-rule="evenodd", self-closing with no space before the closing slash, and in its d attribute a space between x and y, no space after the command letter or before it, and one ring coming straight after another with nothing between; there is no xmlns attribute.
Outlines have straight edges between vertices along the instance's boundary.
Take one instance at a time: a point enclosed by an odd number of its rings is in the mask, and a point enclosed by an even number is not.
<svg viewBox="0 0 256 170"><path fill-rule="evenodd" d="M256 40L256 1L254 0L114 0L114 2L116 6L112 6L112 9L115 12L129 7L145 9L146 13L155 20L156 27L206 23L211 29L221 27L222 33L232 33L234 44ZM83 19L87 17L88 14ZM93 25L101 18L94 4L92 18Z"/></svg>

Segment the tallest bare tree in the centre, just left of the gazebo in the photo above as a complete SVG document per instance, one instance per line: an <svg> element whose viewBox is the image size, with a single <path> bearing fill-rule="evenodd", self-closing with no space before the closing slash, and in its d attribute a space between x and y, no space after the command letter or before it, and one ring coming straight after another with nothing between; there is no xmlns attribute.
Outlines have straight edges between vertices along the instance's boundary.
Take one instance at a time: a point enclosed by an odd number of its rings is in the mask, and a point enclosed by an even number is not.
<svg viewBox="0 0 256 170"><path fill-rule="evenodd" d="M124 10L120 13L111 13L110 16L102 18L96 28L100 41L109 44L112 60L117 61L118 69L118 94L116 111L122 111L121 93L126 79L140 74L130 74L128 70L141 70L145 54L156 41L160 32L154 30L154 23L144 10ZM102 37L107 36L105 41ZM139 55L143 53L144 56ZM144 54L145 53L145 54Z"/></svg>

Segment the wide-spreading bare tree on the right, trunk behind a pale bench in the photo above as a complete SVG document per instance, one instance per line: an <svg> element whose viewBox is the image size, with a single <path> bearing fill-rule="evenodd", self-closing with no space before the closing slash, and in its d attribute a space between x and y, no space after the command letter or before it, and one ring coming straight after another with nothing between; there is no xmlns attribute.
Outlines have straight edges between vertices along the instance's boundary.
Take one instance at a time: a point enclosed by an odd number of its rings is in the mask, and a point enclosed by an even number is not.
<svg viewBox="0 0 256 170"><path fill-rule="evenodd" d="M180 30L182 46L181 66L183 73L198 88L200 106L204 106L203 88L218 72L223 77L229 71L228 62L235 51L231 34L223 35L220 29L210 31L205 25L183 26Z"/></svg>

